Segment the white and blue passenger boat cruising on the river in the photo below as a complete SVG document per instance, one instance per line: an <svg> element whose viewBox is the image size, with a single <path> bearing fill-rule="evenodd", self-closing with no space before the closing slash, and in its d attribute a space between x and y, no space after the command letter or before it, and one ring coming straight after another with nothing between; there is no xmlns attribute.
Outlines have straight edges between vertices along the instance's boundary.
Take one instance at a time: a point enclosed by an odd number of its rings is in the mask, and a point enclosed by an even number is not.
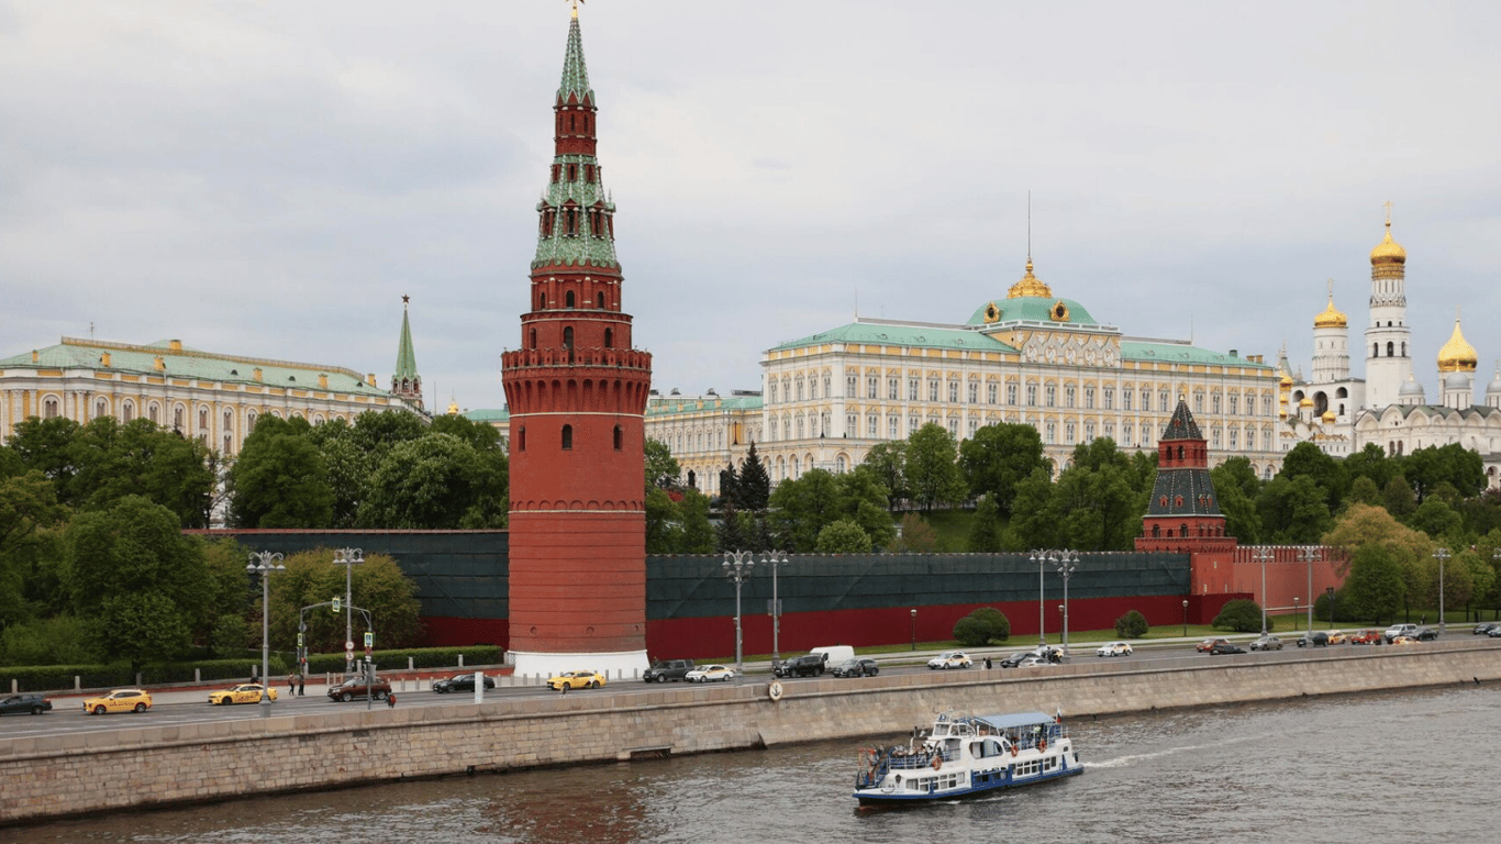
<svg viewBox="0 0 1501 844"><path fill-rule="evenodd" d="M860 805L955 800L1084 773L1063 713L941 713L907 746L860 751Z"/></svg>

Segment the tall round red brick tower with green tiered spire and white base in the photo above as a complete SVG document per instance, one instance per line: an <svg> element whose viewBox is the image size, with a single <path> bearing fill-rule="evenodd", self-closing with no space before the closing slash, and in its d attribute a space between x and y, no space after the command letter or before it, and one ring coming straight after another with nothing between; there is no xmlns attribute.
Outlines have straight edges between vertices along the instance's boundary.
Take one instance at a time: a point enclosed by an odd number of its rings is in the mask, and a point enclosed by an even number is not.
<svg viewBox="0 0 1501 844"><path fill-rule="evenodd" d="M578 9L537 203L531 309L501 360L510 405L510 650L516 673L633 671L645 658L645 405L615 206L594 158Z"/></svg>

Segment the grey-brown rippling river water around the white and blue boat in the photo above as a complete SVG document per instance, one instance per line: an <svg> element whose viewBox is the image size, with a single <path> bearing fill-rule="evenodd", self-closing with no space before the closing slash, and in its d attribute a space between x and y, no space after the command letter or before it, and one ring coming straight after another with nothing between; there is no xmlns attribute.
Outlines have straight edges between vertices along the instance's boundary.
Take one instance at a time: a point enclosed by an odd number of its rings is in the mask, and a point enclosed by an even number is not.
<svg viewBox="0 0 1501 844"><path fill-rule="evenodd" d="M0 841L1366 844L1498 835L1501 688L1069 724L1082 776L902 809L857 809L850 796L856 749L869 739L141 811L0 830ZM245 776L263 763L276 760L245 760Z"/></svg>

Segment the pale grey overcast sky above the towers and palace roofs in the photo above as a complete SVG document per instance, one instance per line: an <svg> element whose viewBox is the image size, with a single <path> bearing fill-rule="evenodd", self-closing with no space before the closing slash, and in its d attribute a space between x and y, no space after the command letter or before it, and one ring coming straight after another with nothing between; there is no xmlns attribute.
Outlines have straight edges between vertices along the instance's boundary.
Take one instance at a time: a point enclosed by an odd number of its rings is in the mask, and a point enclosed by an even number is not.
<svg viewBox="0 0 1501 844"><path fill-rule="evenodd" d="M1501 3L593 0L617 254L654 386L778 342L962 323L1037 276L1127 335L1355 374L1384 203L1414 369L1501 338ZM0 354L60 336L504 402L561 0L0 0Z"/></svg>

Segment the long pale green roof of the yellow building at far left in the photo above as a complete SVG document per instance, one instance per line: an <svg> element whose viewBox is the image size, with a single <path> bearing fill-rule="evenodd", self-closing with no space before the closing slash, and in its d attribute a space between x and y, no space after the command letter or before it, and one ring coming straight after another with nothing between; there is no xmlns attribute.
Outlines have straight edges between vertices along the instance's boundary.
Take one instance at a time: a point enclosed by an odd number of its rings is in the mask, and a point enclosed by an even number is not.
<svg viewBox="0 0 1501 844"><path fill-rule="evenodd" d="M264 384L270 387L330 390L354 395L389 396L386 390L372 387L365 377L342 366L320 366L317 363L294 363L290 360L269 360L261 357L240 357L231 354L215 354L162 339L147 345L131 345L125 342L105 342L95 339L62 338L57 345L36 350L36 360L32 353L24 351L0 359L0 369L93 369L101 372L126 372L149 377L200 378L224 383ZM102 362L104 354L110 354L110 365ZM156 359L162 359L162 369L156 368ZM255 369L261 369L261 380L255 380ZM329 386L318 386L318 375L329 375Z"/></svg>

